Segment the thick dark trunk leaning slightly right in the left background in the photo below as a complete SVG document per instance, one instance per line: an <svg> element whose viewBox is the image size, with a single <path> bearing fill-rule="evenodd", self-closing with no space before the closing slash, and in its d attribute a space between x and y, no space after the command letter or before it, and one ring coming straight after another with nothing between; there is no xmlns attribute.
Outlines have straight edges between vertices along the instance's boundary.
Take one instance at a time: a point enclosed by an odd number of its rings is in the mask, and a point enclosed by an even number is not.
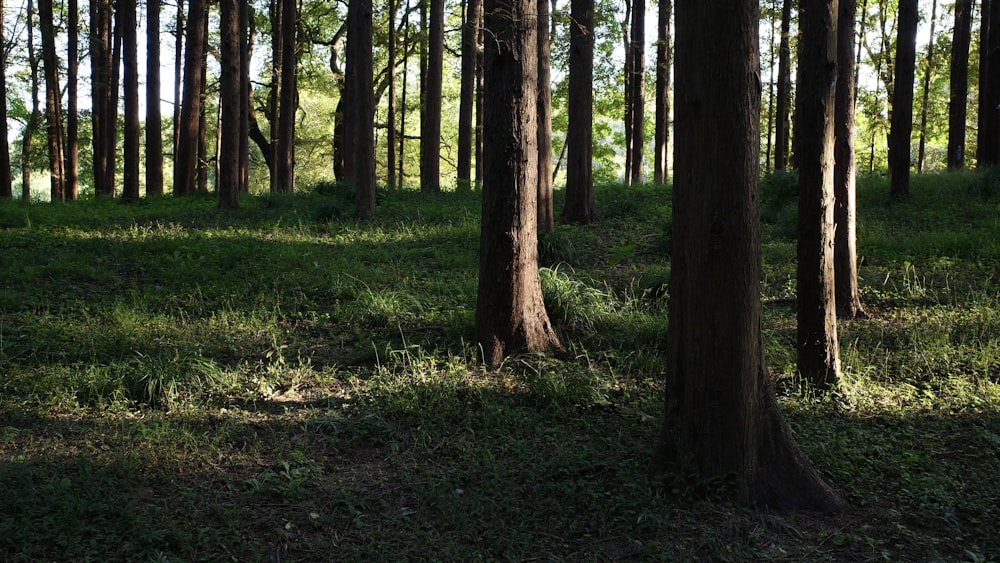
<svg viewBox="0 0 1000 563"><path fill-rule="evenodd" d="M188 2L184 49L184 94L174 156L174 195L195 191L198 171L198 139L201 121L202 55L205 52L205 0Z"/></svg>

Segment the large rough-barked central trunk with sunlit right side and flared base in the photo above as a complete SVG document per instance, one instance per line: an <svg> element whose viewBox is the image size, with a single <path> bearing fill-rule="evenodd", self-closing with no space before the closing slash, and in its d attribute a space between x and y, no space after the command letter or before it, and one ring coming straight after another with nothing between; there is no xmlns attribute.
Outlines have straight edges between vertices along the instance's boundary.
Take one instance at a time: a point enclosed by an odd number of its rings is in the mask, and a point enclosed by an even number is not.
<svg viewBox="0 0 1000 563"><path fill-rule="evenodd" d="M483 211L476 334L496 367L510 353L560 349L538 277L536 0L487 0Z"/></svg>

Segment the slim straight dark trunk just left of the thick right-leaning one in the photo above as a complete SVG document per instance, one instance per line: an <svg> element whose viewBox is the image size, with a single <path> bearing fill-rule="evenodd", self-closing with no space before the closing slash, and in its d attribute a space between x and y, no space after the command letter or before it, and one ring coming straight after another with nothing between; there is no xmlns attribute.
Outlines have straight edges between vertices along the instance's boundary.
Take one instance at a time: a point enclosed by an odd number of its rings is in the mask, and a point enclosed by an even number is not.
<svg viewBox="0 0 1000 563"><path fill-rule="evenodd" d="M146 195L163 195L160 0L146 0Z"/></svg>

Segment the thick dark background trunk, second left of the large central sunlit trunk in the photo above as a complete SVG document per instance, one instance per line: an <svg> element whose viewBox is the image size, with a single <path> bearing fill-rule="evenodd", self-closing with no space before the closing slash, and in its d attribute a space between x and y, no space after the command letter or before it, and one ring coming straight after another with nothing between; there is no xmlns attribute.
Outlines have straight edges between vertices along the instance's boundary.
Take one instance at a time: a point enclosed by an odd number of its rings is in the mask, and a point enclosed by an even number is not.
<svg viewBox="0 0 1000 563"><path fill-rule="evenodd" d="M444 69L444 0L429 0L427 72L420 114L420 189L441 190L441 86Z"/></svg>

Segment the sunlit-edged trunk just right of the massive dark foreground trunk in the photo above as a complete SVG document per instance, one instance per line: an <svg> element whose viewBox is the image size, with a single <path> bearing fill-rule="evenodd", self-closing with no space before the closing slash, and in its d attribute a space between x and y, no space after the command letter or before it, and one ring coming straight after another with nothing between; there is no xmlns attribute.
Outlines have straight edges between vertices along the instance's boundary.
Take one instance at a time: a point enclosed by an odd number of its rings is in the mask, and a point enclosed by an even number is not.
<svg viewBox="0 0 1000 563"><path fill-rule="evenodd" d="M840 377L833 262L837 1L800 0L799 8L798 367L806 381L825 390Z"/></svg>

